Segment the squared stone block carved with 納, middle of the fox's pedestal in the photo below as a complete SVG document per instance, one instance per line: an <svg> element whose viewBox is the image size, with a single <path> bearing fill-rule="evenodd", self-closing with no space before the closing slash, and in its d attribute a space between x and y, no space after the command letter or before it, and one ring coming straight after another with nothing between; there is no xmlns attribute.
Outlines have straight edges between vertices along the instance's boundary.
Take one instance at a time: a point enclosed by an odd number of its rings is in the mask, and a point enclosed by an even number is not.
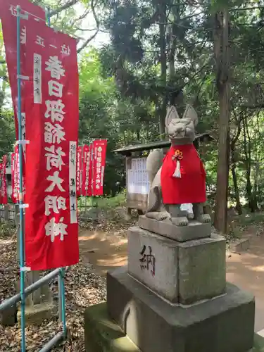
<svg viewBox="0 0 264 352"><path fill-rule="evenodd" d="M173 303L225 293L224 237L177 242L136 226L128 231L127 251L128 273Z"/></svg>

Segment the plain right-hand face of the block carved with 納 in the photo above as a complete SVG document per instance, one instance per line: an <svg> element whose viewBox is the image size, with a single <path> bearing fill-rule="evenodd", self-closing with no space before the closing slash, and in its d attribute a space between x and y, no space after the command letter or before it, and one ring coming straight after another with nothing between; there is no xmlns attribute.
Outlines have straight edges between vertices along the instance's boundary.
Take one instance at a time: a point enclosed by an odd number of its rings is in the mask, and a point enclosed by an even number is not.
<svg viewBox="0 0 264 352"><path fill-rule="evenodd" d="M178 246L178 297L182 304L213 298L226 289L225 237L212 234L207 239Z"/></svg>

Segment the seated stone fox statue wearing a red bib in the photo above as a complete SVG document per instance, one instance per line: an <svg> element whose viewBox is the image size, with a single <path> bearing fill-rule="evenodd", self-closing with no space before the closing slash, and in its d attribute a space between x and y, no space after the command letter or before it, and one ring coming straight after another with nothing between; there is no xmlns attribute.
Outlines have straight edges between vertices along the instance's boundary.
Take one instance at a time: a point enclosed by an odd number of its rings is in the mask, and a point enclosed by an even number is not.
<svg viewBox="0 0 264 352"><path fill-rule="evenodd" d="M175 106L168 108L165 127L170 137L170 150L164 159L162 150L151 151L146 160L150 182L147 218L170 219L174 225L186 226L188 215L180 206L192 203L194 219L210 222L210 215L203 213L206 172L193 144L197 122L196 111L189 105L182 118Z"/></svg>

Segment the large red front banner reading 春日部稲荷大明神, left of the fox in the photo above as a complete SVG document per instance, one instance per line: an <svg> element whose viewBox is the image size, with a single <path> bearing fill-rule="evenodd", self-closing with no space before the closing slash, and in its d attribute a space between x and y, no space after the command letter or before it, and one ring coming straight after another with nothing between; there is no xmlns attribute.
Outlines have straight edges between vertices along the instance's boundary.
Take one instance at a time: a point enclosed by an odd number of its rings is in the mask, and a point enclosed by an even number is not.
<svg viewBox="0 0 264 352"><path fill-rule="evenodd" d="M25 258L31 270L46 270L79 261L75 39L35 24L27 37L27 75Z"/></svg>

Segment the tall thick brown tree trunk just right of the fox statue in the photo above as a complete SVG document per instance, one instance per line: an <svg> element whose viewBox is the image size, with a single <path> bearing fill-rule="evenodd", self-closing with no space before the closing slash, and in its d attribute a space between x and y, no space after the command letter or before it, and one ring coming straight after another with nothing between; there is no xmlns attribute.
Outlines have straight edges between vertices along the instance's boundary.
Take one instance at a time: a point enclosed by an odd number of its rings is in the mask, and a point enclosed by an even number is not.
<svg viewBox="0 0 264 352"><path fill-rule="evenodd" d="M219 94L219 146L217 189L215 197L215 228L227 233L227 191L230 153L230 59L229 14L227 8L215 15L216 83Z"/></svg>

